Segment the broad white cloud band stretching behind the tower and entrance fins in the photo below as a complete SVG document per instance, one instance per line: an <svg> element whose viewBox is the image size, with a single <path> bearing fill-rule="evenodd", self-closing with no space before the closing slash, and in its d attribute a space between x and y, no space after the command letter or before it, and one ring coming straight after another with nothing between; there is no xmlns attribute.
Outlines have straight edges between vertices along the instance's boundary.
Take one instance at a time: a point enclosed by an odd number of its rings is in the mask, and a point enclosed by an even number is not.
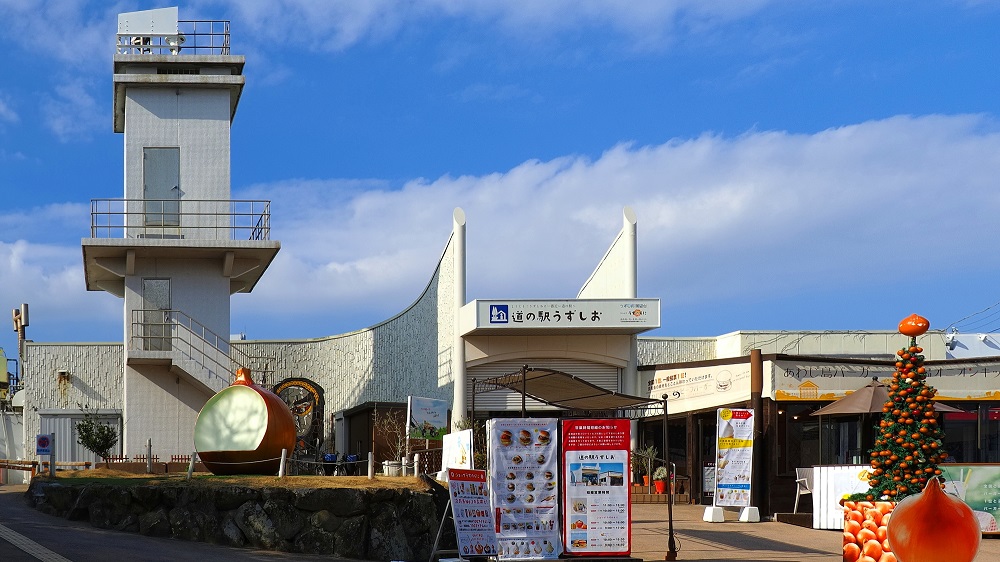
<svg viewBox="0 0 1000 562"><path fill-rule="evenodd" d="M234 330L320 337L400 312L430 279L456 206L468 217L470 299L575 296L626 205L639 220L639 293L665 306L777 302L930 271L995 274L1000 258L973 242L996 238L998 129L976 115L899 116L815 134L620 144L596 159L528 161L399 188L255 185L234 196L272 200L282 249L257 289L234 300ZM78 207L0 223L68 230L68 216L86 215ZM4 298L65 309L117 339L120 301L86 293L78 239L25 240L33 238L0 243Z"/></svg>

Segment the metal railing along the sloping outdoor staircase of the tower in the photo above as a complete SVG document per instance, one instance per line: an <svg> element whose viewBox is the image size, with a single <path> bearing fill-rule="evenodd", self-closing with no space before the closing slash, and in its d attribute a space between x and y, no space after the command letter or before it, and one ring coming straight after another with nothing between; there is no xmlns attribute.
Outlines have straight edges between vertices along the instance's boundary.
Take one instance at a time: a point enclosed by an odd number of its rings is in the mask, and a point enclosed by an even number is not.
<svg viewBox="0 0 1000 562"><path fill-rule="evenodd" d="M133 310L129 349L177 353L204 368L209 382L217 378L225 385L232 382L240 367L250 369L254 381L261 386L268 384L273 373L265 358L252 357L230 346L228 338L179 310Z"/></svg>

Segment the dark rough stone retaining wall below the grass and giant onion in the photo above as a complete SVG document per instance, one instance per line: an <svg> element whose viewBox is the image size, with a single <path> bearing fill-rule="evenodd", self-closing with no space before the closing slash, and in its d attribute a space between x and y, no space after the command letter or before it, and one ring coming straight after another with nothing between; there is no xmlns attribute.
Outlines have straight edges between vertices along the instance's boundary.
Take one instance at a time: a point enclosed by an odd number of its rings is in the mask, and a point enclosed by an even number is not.
<svg viewBox="0 0 1000 562"><path fill-rule="evenodd" d="M429 559L448 501L436 483L414 492L64 485L42 478L25 496L41 512L101 529L360 560ZM445 528L439 548L454 549L454 526Z"/></svg>

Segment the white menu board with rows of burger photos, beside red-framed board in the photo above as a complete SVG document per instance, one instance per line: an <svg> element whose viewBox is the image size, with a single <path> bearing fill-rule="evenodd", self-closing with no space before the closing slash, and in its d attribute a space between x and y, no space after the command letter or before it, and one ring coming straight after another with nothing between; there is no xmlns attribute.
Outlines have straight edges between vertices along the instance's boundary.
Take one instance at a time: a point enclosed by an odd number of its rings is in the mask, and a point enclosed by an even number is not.
<svg viewBox="0 0 1000 562"><path fill-rule="evenodd" d="M487 431L499 557L559 558L557 421L498 418Z"/></svg>

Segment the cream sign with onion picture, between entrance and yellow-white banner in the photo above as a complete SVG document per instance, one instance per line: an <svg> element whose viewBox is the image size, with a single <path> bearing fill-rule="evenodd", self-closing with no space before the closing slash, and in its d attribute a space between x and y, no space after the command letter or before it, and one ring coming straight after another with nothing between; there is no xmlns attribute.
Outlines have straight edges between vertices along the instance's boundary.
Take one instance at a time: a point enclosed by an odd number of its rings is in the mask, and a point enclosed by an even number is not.
<svg viewBox="0 0 1000 562"><path fill-rule="evenodd" d="M715 408L750 399L749 363L660 369L652 373L646 381L648 396L661 400L666 394L671 413Z"/></svg>

